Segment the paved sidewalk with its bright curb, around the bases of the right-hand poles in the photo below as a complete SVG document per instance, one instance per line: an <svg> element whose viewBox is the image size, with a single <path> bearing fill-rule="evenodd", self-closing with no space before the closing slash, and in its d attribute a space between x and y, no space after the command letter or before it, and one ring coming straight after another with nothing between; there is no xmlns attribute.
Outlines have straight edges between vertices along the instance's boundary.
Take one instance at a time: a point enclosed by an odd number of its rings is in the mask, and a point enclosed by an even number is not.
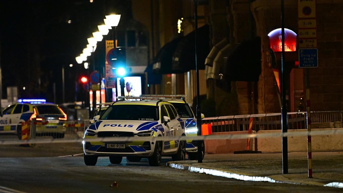
<svg viewBox="0 0 343 193"><path fill-rule="evenodd" d="M206 154L198 161L170 161L167 166L247 181L320 185L343 188L343 152L312 152L312 177L307 152L288 154L288 174L282 174L282 154Z"/></svg>

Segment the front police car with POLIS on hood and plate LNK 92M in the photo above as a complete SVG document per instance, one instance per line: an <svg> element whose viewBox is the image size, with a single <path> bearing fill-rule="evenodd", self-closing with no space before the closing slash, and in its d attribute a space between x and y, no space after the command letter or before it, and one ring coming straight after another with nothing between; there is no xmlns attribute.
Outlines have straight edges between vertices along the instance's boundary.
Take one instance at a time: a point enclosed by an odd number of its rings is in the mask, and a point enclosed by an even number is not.
<svg viewBox="0 0 343 193"><path fill-rule="evenodd" d="M129 161L148 158L150 166L159 166L162 156L173 160L185 159L185 141L158 141L160 136L183 136L185 124L169 102L152 97L117 97L105 112L94 117L84 138L114 137L114 141L83 142L84 162L94 166L99 156L109 156L111 163L120 163L126 156ZM125 99L140 99L130 101ZM144 139L155 137L154 140ZM134 137L134 141L119 142L116 137Z"/></svg>

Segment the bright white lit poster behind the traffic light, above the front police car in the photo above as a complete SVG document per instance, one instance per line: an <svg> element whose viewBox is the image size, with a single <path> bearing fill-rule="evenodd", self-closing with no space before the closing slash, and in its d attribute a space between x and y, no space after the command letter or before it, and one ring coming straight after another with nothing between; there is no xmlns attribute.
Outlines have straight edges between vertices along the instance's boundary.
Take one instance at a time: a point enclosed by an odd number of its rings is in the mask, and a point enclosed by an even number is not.
<svg viewBox="0 0 343 193"><path fill-rule="evenodd" d="M118 88L118 96L121 96L119 80L120 78L117 78L117 88ZM125 88L124 88L125 96L139 96L140 94L142 94L142 81L141 81L140 76L124 77L124 80L125 80Z"/></svg>

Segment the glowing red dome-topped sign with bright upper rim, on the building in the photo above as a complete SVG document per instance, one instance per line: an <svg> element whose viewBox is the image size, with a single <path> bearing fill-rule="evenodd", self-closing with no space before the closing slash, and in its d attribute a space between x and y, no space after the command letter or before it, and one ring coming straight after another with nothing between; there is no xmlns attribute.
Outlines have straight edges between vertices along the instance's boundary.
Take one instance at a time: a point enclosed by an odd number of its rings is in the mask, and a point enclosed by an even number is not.
<svg viewBox="0 0 343 193"><path fill-rule="evenodd" d="M269 36L270 48L274 52L282 51L281 28L271 31ZM296 50L297 34L292 30L285 28L285 52L294 52Z"/></svg>

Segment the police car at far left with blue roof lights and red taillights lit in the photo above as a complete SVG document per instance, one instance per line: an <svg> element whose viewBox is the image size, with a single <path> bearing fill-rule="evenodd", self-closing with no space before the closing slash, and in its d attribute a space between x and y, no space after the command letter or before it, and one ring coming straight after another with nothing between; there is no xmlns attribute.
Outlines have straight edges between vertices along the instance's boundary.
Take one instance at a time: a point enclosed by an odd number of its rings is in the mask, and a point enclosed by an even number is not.
<svg viewBox="0 0 343 193"><path fill-rule="evenodd" d="M66 128L63 126L67 115L59 106L46 103L45 99L19 99L2 112L0 134L12 133L21 139L22 123L35 121L36 135L63 138Z"/></svg>

